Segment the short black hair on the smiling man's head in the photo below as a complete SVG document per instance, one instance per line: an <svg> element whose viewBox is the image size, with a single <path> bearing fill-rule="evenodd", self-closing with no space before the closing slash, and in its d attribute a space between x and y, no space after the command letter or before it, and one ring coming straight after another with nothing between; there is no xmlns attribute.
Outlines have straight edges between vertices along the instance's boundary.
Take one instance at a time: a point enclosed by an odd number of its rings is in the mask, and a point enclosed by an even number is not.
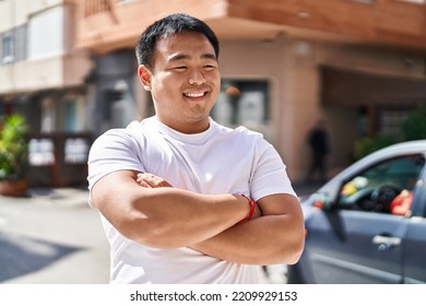
<svg viewBox="0 0 426 306"><path fill-rule="evenodd" d="M203 34L214 48L216 58L218 58L218 40L214 32L199 19L187 14L171 14L154 22L141 35L137 46L135 54L139 64L153 67L153 55L156 44L159 39L182 32L196 32Z"/></svg>

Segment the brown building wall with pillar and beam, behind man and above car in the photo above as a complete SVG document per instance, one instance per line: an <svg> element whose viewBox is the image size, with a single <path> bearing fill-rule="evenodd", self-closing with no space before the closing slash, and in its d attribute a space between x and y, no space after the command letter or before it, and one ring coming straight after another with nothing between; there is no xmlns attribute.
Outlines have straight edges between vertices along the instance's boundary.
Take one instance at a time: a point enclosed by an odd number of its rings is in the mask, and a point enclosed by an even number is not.
<svg viewBox="0 0 426 306"><path fill-rule="evenodd" d="M221 47L223 78L271 81L271 122L262 132L279 150L296 181L306 178L310 165L306 137L317 119L324 118L329 123L330 176L352 162L353 144L358 138L358 108L329 106L321 101L321 66L386 75L422 78L424 73L421 55L372 47L285 39L225 40Z"/></svg>

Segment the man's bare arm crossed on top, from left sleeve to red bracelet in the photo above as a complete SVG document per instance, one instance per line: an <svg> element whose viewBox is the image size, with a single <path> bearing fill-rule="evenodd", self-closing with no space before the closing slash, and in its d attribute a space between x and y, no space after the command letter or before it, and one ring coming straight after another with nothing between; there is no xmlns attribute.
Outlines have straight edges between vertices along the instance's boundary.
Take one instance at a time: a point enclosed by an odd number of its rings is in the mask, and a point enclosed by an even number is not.
<svg viewBox="0 0 426 306"><path fill-rule="evenodd" d="M205 196L167 187L141 188L132 172L102 178L92 196L103 215L122 235L158 248L184 247L209 239L249 212L247 200L241 196Z"/></svg>

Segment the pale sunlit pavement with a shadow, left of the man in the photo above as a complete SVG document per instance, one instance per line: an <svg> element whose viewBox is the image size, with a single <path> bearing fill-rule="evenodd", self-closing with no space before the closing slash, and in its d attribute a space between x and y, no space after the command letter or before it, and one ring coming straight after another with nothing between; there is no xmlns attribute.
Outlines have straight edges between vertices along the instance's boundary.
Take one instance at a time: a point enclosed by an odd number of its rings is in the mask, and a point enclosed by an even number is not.
<svg viewBox="0 0 426 306"><path fill-rule="evenodd" d="M317 189L296 185L299 196ZM86 187L35 188L0 196L0 284L106 284L109 246ZM264 283L285 283L286 267L264 267Z"/></svg>

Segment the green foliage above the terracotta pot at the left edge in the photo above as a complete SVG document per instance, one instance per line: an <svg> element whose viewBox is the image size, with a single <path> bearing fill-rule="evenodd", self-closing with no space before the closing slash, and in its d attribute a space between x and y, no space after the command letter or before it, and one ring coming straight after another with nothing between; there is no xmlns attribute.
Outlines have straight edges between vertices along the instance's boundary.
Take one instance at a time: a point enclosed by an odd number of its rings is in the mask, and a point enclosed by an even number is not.
<svg viewBox="0 0 426 306"><path fill-rule="evenodd" d="M0 128L0 180L19 180L28 170L28 132L22 115L9 115Z"/></svg>

